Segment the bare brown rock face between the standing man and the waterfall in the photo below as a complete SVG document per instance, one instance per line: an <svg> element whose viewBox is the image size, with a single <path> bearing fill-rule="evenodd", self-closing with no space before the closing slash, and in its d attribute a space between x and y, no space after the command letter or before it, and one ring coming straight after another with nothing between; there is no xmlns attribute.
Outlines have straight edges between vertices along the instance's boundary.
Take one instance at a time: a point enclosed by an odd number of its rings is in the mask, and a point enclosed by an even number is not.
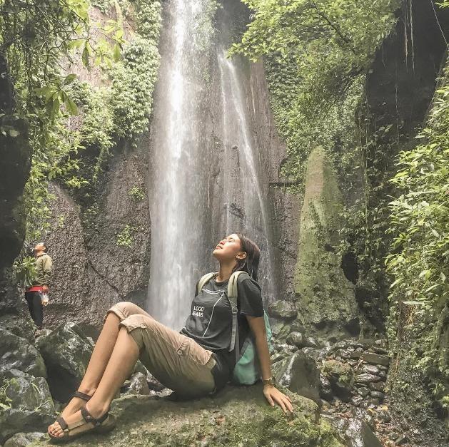
<svg viewBox="0 0 449 447"><path fill-rule="evenodd" d="M55 326L64 318L101 326L104 314L116 302L143 304L148 287L151 226L148 200L138 201L131 189L145 192L146 160L143 152L117 155L106 174L104 193L94 205L94 229L78 205L56 185L51 210L56 218L49 232L49 254L54 260L51 305L44 323ZM128 225L131 247L119 246L118 235Z"/></svg>

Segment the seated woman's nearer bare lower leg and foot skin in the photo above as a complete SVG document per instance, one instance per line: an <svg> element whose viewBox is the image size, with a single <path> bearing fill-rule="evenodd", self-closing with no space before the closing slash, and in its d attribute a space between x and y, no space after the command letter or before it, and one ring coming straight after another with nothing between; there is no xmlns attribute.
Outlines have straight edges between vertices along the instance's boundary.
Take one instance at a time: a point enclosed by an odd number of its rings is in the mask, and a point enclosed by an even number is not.
<svg viewBox="0 0 449 447"><path fill-rule="evenodd" d="M136 341L134 341L133 337L128 334L126 328L122 327L118 332L118 337L106 369L104 369L101 380L96 386L94 396L86 404L86 409L92 416L94 416L94 418L99 418L108 411L113 397L116 395L118 389L120 389L129 374L131 374L138 359L138 354L139 351ZM65 417L64 420L66 423L70 424L79 421L80 418L81 411L76 411L76 413ZM89 426L86 428L88 427ZM63 435L59 423L55 422L53 424L51 434L54 436Z"/></svg>

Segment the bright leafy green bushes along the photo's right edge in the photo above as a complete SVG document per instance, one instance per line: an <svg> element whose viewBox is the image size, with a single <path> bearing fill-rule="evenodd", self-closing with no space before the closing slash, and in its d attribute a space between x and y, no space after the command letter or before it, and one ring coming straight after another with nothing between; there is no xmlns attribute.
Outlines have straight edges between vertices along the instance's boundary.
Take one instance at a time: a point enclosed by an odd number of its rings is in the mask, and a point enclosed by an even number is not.
<svg viewBox="0 0 449 447"><path fill-rule="evenodd" d="M414 351L426 353L415 355L414 367L448 406L448 346L440 345L444 322L438 322L449 303L449 67L435 92L428 127L417 138L420 145L398 155L398 173L391 180L400 195L390 202L394 239L386 266L395 308L390 332L397 346L399 314L407 309L414 315L413 325L405 327L416 334Z"/></svg>

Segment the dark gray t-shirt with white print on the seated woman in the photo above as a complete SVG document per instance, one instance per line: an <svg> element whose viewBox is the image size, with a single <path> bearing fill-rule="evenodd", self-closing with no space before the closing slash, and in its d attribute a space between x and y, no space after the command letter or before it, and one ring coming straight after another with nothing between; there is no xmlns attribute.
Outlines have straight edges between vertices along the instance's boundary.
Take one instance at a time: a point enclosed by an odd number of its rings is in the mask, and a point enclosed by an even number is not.
<svg viewBox="0 0 449 447"><path fill-rule="evenodd" d="M240 347L249 334L250 328L246 315L263 317L261 287L252 278L241 277L237 280L238 289L238 339ZM191 305L191 314L181 329L204 349L216 354L216 386L226 384L236 365L235 351L229 351L231 345L232 313L228 299L228 280L217 282L211 279L196 294Z"/></svg>

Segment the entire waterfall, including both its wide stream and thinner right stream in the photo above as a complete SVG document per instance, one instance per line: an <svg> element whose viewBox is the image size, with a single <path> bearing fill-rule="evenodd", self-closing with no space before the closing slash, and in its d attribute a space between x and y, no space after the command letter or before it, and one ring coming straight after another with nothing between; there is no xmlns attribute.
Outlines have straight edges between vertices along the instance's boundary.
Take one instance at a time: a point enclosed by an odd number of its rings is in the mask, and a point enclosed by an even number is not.
<svg viewBox="0 0 449 447"><path fill-rule="evenodd" d="M254 112L240 69L226 59L228 42L213 46L215 8L211 0L164 5L151 123L148 310L173 329L183 326L196 281L211 268L208 255L231 232L245 232L261 247L264 297L274 294L267 192L251 134ZM226 36L220 32L218 40ZM220 149L212 140L221 142L218 166ZM216 214L220 225L211 222Z"/></svg>

